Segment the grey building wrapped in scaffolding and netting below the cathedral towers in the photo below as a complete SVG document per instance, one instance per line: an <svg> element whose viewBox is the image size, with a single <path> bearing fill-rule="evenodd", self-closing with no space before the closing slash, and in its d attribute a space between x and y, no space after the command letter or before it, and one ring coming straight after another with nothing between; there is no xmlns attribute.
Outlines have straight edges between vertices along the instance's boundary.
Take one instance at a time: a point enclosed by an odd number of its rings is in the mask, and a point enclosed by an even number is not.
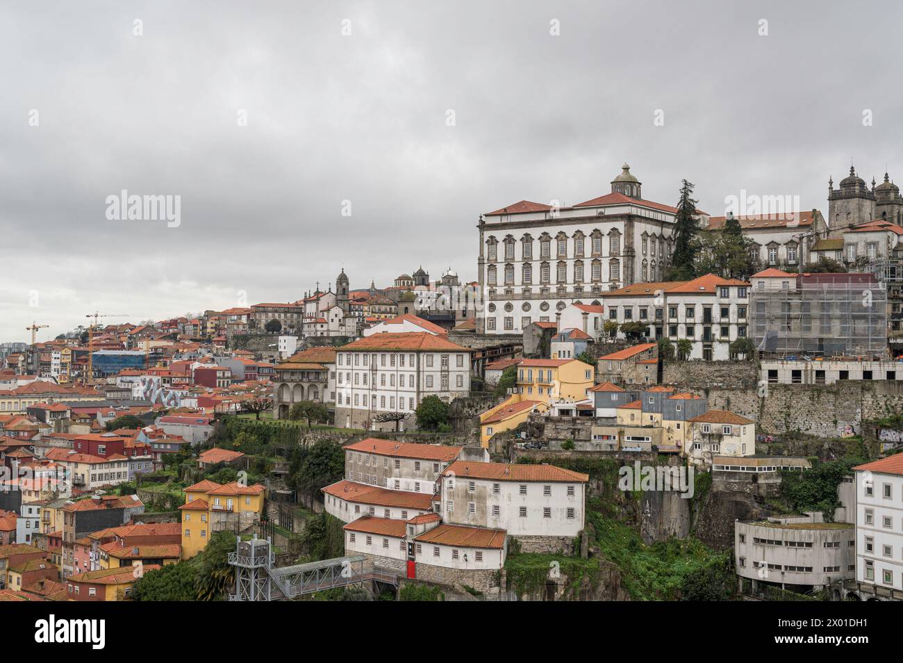
<svg viewBox="0 0 903 663"><path fill-rule="evenodd" d="M773 357L887 357L886 285L872 275L811 276L791 281L791 288L753 291L757 350Z"/></svg>

